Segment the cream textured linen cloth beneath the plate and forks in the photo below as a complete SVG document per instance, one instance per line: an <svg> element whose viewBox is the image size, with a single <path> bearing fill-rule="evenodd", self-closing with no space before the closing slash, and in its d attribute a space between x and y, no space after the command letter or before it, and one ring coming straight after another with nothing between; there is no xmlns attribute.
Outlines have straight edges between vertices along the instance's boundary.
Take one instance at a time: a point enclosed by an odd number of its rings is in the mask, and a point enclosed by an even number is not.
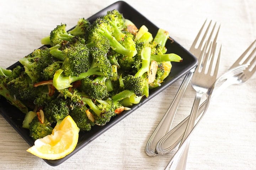
<svg viewBox="0 0 256 170"><path fill-rule="evenodd" d="M41 38L60 23L67 28L113 0L8 0L0 2L0 66L8 67L41 46ZM219 75L256 39L255 0L127 0L156 26L189 49L208 18L221 24ZM183 78L182 78L183 79ZM59 166L26 152L29 145L0 115L0 169L164 169L174 153L148 157L148 138L170 106L182 79L159 93ZM230 86L212 100L194 133L187 170L253 170L256 167L256 77ZM174 125L189 113L194 99L189 85Z"/></svg>

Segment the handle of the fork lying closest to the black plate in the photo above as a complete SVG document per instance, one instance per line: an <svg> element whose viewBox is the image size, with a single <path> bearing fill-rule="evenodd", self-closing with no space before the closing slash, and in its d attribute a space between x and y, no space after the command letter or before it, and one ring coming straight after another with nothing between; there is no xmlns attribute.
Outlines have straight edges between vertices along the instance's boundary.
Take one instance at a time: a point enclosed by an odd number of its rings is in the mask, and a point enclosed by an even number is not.
<svg viewBox="0 0 256 170"><path fill-rule="evenodd" d="M182 84L180 88L178 89L178 92L172 101L170 107L168 108L167 112L165 113L164 117L159 122L158 126L154 130L153 134L150 136L148 143L145 147L145 152L149 156L153 157L158 155L158 153L155 152L156 143L166 135L168 131L170 131L172 121L174 119L174 116L176 114L178 105L180 103L180 100L187 88L188 83L190 82L192 75L193 75L194 69L192 69L190 72L188 72L185 76L185 78L182 81Z"/></svg>

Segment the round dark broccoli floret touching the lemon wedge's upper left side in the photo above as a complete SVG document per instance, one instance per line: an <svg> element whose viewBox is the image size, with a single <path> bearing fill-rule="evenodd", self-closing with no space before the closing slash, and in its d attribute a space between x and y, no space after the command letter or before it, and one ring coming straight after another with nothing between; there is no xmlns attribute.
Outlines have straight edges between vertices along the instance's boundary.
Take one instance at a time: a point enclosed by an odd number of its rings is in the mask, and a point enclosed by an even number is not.
<svg viewBox="0 0 256 170"><path fill-rule="evenodd" d="M41 123L36 116L30 122L29 130L30 137L32 137L34 140L37 140L52 134L53 128L50 126L50 123L46 119L44 119L44 122Z"/></svg>

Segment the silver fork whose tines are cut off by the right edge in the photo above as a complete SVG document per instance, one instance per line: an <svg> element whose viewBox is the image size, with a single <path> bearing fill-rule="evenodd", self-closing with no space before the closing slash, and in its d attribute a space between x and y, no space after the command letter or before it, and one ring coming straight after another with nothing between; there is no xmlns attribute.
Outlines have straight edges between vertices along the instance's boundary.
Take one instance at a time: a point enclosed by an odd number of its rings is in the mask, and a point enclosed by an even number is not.
<svg viewBox="0 0 256 170"><path fill-rule="evenodd" d="M248 81L251 76L256 72L256 40L242 53L242 55L236 60L236 62L230 67L229 71L240 67L243 70L240 74L234 77L229 77L220 86L215 87L212 97L218 96L226 87L233 84L243 84ZM249 67L247 67L250 65ZM246 68L247 67L247 68ZM228 73L227 71L226 73ZM226 74L224 73L224 74ZM219 83L219 82L218 82ZM204 111L206 101L204 101L199 107L197 117ZM161 154L166 154L173 151L176 146L180 143L183 133L185 131L188 118L185 118L180 124L169 131L164 137L162 137L156 144L156 151Z"/></svg>

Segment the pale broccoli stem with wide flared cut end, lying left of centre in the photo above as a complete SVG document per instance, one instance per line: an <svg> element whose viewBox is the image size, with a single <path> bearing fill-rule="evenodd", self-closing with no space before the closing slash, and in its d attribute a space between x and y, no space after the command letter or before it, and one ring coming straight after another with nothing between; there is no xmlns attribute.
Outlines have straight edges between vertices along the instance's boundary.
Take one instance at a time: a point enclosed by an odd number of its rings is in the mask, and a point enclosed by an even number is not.
<svg viewBox="0 0 256 170"><path fill-rule="evenodd" d="M89 77L90 75L102 75L98 67L90 68L87 72L81 73L78 76L64 76L64 70L59 69L53 76L53 86L57 90L71 87L71 83Z"/></svg>

